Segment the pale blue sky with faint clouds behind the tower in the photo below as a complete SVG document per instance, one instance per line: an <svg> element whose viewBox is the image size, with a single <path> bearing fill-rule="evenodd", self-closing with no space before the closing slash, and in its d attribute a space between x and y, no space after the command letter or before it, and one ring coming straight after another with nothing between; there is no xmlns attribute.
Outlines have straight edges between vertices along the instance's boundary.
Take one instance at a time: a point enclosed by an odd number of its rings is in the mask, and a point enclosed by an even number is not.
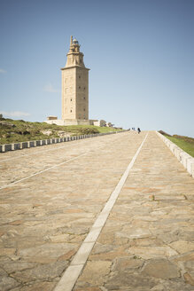
<svg viewBox="0 0 194 291"><path fill-rule="evenodd" d="M70 35L89 67L89 119L194 138L193 0L0 0L0 112L61 118Z"/></svg>

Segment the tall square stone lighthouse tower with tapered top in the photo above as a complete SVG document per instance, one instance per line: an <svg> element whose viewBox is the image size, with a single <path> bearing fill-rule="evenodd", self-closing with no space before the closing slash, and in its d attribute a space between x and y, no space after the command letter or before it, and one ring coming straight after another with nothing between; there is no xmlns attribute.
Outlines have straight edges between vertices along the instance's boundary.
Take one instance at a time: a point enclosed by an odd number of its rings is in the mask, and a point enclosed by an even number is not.
<svg viewBox="0 0 194 291"><path fill-rule="evenodd" d="M80 44L71 36L66 67L62 70L62 120L66 124L89 122L89 68L83 62Z"/></svg>

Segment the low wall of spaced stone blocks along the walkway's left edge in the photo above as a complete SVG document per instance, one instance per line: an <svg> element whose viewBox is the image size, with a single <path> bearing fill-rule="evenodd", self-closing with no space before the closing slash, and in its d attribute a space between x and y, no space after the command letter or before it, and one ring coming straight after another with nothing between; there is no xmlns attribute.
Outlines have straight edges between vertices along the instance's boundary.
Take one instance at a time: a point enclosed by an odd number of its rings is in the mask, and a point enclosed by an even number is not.
<svg viewBox="0 0 194 291"><path fill-rule="evenodd" d="M97 134L74 136L71 138L49 138L49 139L43 139L43 140L24 141L24 142L16 143L16 144L0 145L0 153L21 150L23 148L28 148L28 147L46 146L46 145L51 145L51 144L64 143L67 141L77 140L77 139L82 139L82 138L95 138L95 137L105 136L105 135L109 135L109 134L113 134L113 133L120 133L123 131L125 131L125 130L113 131L113 132L107 132L107 133L97 133Z"/></svg>

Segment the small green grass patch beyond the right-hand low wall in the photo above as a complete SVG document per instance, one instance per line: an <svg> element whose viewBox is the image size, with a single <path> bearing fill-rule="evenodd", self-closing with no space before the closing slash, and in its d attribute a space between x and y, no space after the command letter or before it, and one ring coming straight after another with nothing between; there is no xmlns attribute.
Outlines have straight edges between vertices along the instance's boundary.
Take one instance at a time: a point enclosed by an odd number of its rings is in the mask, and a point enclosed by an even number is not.
<svg viewBox="0 0 194 291"><path fill-rule="evenodd" d="M178 135L174 135L172 137L165 135L165 137L170 139L176 146L181 147L184 152L189 153L192 157L194 157L194 138Z"/></svg>

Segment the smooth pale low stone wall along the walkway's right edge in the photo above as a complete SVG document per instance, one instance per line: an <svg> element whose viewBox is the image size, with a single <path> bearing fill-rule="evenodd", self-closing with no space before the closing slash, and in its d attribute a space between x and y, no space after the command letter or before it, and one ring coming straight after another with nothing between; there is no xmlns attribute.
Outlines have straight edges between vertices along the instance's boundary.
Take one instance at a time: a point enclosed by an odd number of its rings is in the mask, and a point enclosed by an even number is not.
<svg viewBox="0 0 194 291"><path fill-rule="evenodd" d="M159 138L169 147L172 153L175 154L175 157L180 161L185 169L190 173L190 176L194 177L194 158L191 157L189 153L185 153L179 146L176 146L168 138L164 137L158 131L156 131Z"/></svg>

